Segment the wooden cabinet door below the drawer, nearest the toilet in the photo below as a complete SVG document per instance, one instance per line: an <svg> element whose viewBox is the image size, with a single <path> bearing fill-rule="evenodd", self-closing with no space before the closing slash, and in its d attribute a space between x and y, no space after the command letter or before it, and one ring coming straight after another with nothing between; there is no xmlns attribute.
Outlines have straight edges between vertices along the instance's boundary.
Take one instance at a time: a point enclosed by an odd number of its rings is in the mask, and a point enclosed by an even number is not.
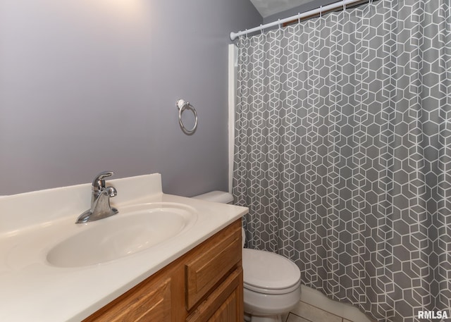
<svg viewBox="0 0 451 322"><path fill-rule="evenodd" d="M187 318L187 322L242 321L244 321L244 311L241 266L233 271Z"/></svg>

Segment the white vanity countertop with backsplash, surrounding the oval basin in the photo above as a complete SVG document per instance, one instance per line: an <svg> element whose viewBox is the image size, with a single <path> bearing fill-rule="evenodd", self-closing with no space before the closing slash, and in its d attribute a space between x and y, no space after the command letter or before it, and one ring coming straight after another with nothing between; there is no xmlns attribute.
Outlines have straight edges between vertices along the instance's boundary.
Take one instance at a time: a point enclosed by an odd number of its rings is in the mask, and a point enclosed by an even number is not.
<svg viewBox="0 0 451 322"><path fill-rule="evenodd" d="M81 321L247 213L244 207L163 194L159 175L135 178L146 187L144 191L140 184L135 185L134 178L107 182L107 185L113 182L118 196L130 186L140 190L135 194L124 193L116 204L112 199L119 211L127 204L175 202L195 209L197 221L162 244L92 266L59 268L46 259L55 241L67 237L67 231L61 227L75 225L80 209L89 204L89 199L73 206L67 206L67 201L74 197L74 191L80 191L75 193L75 199L89 197L90 185L0 199L0 321ZM149 180L151 188L147 186ZM136 198L130 199L130 195ZM60 198L61 202L54 198ZM51 209L53 213L42 212ZM115 216L121 216L121 212Z"/></svg>

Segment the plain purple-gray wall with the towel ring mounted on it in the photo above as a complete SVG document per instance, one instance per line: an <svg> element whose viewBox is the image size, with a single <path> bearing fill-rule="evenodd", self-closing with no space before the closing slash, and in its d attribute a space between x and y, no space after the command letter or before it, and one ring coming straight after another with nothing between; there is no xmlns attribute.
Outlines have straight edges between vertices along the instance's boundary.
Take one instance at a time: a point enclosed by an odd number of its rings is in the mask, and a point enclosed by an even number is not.
<svg viewBox="0 0 451 322"><path fill-rule="evenodd" d="M261 20L248 0L0 0L0 195L104 170L227 190L228 35Z"/></svg>

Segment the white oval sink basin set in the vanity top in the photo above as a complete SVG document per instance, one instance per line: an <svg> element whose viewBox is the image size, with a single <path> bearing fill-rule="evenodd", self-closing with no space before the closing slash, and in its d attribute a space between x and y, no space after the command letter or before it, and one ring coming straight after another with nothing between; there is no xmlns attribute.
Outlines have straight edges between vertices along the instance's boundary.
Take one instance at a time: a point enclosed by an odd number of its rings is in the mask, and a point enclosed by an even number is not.
<svg viewBox="0 0 451 322"><path fill-rule="evenodd" d="M78 267L121 259L171 240L196 219L196 211L183 204L123 207L109 218L76 225L79 231L51 248L47 261L58 267Z"/></svg>

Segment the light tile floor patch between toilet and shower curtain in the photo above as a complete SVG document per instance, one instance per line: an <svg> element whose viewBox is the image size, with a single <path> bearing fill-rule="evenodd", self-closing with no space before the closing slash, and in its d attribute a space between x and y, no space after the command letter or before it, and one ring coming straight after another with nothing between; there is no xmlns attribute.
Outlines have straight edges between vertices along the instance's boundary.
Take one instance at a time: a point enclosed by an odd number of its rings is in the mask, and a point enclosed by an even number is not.
<svg viewBox="0 0 451 322"><path fill-rule="evenodd" d="M284 322L359 322L350 321L341 316L323 311L310 304L300 302L300 304L288 314Z"/></svg>

